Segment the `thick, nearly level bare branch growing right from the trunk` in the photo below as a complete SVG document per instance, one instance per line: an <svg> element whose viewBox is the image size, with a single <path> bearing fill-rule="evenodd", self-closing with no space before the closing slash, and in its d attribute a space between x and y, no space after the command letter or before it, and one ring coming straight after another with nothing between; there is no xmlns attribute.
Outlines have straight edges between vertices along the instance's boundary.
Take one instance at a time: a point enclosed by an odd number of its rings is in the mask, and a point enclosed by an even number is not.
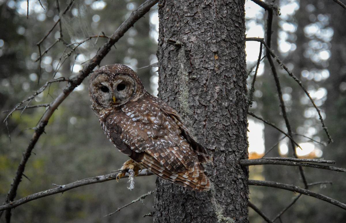
<svg viewBox="0 0 346 223"><path fill-rule="evenodd" d="M277 160L277 159L268 159L268 158L241 159L239 161L240 165L243 165L243 166L273 164L273 165L286 165L286 166L306 166L306 167L319 168L319 169L328 169L328 170L337 171L337 172L346 172L346 169L344 168L339 168L335 166L324 166L324 165L311 164L311 163L302 163L302 162L316 162L316 161L286 161L286 160Z"/></svg>

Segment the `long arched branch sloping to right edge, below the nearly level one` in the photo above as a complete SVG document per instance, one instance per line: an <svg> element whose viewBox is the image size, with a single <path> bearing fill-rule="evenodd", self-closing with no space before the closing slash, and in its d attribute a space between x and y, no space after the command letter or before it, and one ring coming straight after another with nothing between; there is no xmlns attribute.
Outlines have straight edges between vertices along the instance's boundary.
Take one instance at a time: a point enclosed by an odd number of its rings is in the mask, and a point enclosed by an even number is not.
<svg viewBox="0 0 346 223"><path fill-rule="evenodd" d="M328 203L334 204L335 206L341 207L342 209L346 210L346 204L341 203L333 198L327 197L325 195L312 192L294 185L288 185L288 184L283 184L283 183L277 183L277 182L271 182L271 181L257 181L257 180L249 180L248 181L249 185L254 185L254 186L267 186L267 187L275 187L275 188L280 188L283 190L288 190L288 191L293 191L295 193L300 193L300 194L305 194L311 197L316 197L319 200L326 201Z"/></svg>

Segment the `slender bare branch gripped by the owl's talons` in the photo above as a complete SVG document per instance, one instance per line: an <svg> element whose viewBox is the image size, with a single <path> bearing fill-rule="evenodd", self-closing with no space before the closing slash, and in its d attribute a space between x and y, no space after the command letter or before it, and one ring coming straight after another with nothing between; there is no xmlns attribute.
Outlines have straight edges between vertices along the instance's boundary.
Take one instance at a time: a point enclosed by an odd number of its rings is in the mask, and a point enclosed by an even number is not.
<svg viewBox="0 0 346 223"><path fill-rule="evenodd" d="M95 184L95 183L102 183L102 182L111 181L111 180L116 180L117 174L118 173L112 173L112 174L107 174L107 175L102 175L102 176L95 176L95 177L86 178L84 180L75 181L73 183L69 183L66 185L56 185L58 187L53 188L53 189L49 189L46 191L38 192L35 194L31 194L31 195L23 197L17 201L12 201L12 202L9 202L8 204L4 204L4 205L0 206L0 211L6 210L6 209L12 209L14 207L25 204L29 201L36 200L36 199L41 198L41 197L46 197L46 196L50 196L53 194L63 193L65 191L69 191L69 190L76 188L76 187L89 185L89 184ZM153 175L153 173L148 171L147 169L143 169L142 171L140 171L138 173L137 176L150 176L150 175ZM128 173L126 173L126 175L122 178L127 178L127 177L129 177ZM53 185L55 185L55 184L53 184Z"/></svg>

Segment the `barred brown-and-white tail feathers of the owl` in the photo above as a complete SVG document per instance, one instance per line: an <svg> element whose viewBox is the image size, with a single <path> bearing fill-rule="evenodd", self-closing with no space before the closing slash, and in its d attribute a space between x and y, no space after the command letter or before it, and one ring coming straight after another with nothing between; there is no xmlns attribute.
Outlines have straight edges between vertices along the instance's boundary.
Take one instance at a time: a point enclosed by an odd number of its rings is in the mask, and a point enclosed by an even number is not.
<svg viewBox="0 0 346 223"><path fill-rule="evenodd" d="M190 190L210 190L210 180L206 175L204 167L199 162L195 162L195 165L190 169L176 173L170 172L160 162L149 155L145 156L141 164L150 169L155 175Z"/></svg>

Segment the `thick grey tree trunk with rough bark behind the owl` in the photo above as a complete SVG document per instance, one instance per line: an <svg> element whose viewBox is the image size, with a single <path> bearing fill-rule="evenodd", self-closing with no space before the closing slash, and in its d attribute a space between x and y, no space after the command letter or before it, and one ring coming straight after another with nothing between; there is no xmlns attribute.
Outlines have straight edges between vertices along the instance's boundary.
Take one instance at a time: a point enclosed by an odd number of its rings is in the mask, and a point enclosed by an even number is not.
<svg viewBox="0 0 346 223"><path fill-rule="evenodd" d="M158 179L154 222L248 222L248 169L238 162L248 157L244 3L158 3L159 97L208 149L212 189Z"/></svg>

